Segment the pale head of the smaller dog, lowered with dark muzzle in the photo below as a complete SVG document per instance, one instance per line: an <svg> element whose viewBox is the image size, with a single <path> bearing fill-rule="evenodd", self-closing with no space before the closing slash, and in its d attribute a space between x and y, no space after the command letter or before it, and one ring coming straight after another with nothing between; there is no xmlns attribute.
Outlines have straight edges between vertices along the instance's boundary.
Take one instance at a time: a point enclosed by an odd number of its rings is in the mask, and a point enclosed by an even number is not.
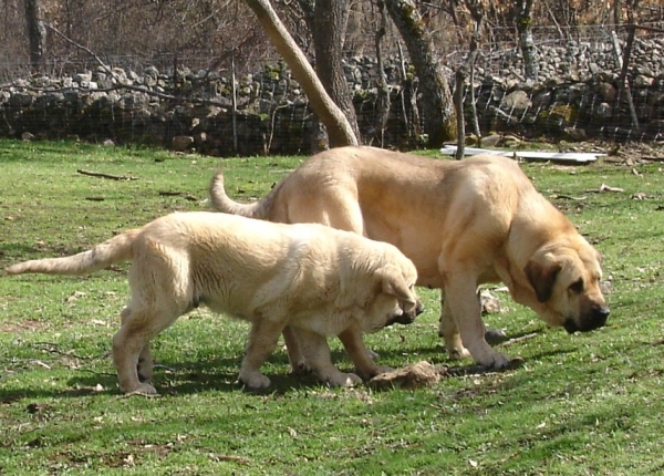
<svg viewBox="0 0 664 476"><path fill-rule="evenodd" d="M415 265L401 255L391 257L388 263L374 273L376 280L373 299L369 303L369 314L373 318L372 329L377 331L394 323L409 324L424 311L415 292L417 270Z"/></svg>

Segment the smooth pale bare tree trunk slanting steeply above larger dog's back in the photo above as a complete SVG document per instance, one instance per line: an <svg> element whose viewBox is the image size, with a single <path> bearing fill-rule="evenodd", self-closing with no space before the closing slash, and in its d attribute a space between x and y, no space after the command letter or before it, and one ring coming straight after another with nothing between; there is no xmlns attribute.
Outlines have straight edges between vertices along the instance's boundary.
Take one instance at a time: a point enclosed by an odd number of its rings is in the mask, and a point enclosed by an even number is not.
<svg viewBox="0 0 664 476"><path fill-rule="evenodd" d="M283 56L293 76L309 97L311 108L320 117L330 136L330 143L340 145L357 145L357 137L343 111L325 92L307 56L294 42L269 0L245 0L258 18L270 41Z"/></svg>

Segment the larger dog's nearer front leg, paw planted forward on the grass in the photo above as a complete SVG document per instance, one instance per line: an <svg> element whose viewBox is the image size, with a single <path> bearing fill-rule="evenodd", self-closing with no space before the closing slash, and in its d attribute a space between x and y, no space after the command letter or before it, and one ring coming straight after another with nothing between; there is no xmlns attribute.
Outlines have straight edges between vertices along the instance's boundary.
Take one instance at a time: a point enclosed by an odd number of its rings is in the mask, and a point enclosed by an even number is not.
<svg viewBox="0 0 664 476"><path fill-rule="evenodd" d="M456 272L452 276L464 275ZM473 359L487 368L504 369L508 365L509 358L496 352L485 340L485 325L476 291L477 286L473 280L452 279L445 287L446 304L449 304L461 342Z"/></svg>

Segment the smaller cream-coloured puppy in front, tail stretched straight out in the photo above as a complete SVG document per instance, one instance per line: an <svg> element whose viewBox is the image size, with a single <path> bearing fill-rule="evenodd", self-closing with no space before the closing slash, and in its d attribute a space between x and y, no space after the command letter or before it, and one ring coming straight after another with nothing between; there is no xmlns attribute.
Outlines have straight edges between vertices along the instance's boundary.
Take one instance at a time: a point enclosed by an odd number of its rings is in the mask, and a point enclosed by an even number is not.
<svg viewBox="0 0 664 476"><path fill-rule="evenodd" d="M113 338L125 392L156 393L149 341L199 304L251 322L239 380L270 384L260 366L288 324L304 359L333 385L360 382L330 360L325 335L342 337L359 373L384 371L367 358L362 332L409 323L422 311L417 271L392 245L322 225L283 225L217 213L181 213L125 231L71 257L25 261L10 275L82 275L131 260L132 298Z"/></svg>

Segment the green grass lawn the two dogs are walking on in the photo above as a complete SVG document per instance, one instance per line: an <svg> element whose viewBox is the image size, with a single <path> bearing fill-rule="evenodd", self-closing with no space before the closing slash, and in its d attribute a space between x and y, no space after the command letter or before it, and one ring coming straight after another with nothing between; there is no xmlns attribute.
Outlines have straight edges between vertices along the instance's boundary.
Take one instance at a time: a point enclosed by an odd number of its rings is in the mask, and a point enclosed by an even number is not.
<svg viewBox="0 0 664 476"><path fill-rule="evenodd" d="M209 209L219 166L229 194L249 200L303 159L0 142L0 268ZM123 396L110 349L125 265L85 277L0 275L0 474L664 473L664 164L523 168L604 255L606 328L568 335L497 291L502 312L487 322L510 338L533 334L501 348L525 359L517 369L416 391L329 389L289 375L278 350L263 368L271 391L251 394L235 384L247 325L196 310L154 342L160 396ZM624 192L588 192L602 184ZM437 293L421 296L427 311L413 325L366 337L381 363L469 364L447 361Z"/></svg>

